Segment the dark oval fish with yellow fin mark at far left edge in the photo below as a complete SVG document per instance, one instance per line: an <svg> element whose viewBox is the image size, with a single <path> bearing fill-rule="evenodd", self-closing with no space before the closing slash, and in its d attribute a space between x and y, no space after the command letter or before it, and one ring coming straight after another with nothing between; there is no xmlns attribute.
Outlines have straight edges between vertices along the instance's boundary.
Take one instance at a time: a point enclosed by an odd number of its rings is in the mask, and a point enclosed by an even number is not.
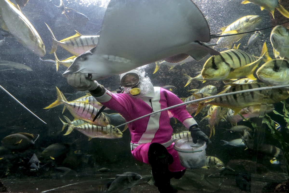
<svg viewBox="0 0 289 193"><path fill-rule="evenodd" d="M39 135L38 135L39 137ZM38 138L37 137L37 138ZM11 151L25 151L34 145L34 136L29 133L15 133L3 138L2 145Z"/></svg>

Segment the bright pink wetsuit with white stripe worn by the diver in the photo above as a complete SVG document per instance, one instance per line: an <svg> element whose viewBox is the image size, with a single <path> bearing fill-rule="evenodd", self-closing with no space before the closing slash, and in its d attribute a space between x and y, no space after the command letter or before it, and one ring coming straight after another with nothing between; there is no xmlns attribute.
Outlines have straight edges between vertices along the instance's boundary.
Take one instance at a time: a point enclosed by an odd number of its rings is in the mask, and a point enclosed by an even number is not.
<svg viewBox="0 0 289 193"><path fill-rule="evenodd" d="M108 90L103 96L95 98L106 107L120 113L126 121L182 103L175 94L166 89L154 87L154 90L155 97L151 100L142 100L131 97L129 94L113 94ZM186 111L185 105L172 108L169 111L187 128L197 124ZM131 150L132 155L135 159L147 164L149 164L149 145L154 142L164 144L172 139L173 128L170 125L167 111L129 123L128 128L131 133L131 145L136 144L136 147ZM173 149L173 144L166 147L166 149L174 158L173 164L170 164L168 169L171 172L184 170L185 168L180 164L177 151Z"/></svg>

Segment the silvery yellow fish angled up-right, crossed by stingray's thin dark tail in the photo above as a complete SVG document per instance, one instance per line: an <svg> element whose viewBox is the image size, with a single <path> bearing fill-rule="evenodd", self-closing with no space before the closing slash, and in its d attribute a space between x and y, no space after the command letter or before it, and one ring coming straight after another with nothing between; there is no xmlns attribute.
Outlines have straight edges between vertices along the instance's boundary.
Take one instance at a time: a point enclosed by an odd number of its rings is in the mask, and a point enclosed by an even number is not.
<svg viewBox="0 0 289 193"><path fill-rule="evenodd" d="M221 35L237 34L246 31L254 30L257 25L261 23L261 17L258 15L247 15L237 21L234 21L228 26L222 27ZM245 34L221 37L217 41L217 45L214 48L228 48L231 49L234 42L240 40Z"/></svg>

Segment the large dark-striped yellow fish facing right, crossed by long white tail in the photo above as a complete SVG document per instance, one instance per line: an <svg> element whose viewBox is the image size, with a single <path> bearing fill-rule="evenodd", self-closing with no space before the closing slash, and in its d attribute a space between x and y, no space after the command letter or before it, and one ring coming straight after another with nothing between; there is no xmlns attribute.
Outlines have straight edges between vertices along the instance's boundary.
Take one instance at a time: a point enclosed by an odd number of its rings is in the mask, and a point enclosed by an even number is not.
<svg viewBox="0 0 289 193"><path fill-rule="evenodd" d="M226 89L219 94L225 94L240 90L248 90L252 88L266 87L266 83L251 83L251 84L235 84L231 85L231 88ZM194 95L194 94L193 94ZM198 96L196 95L196 98ZM221 96L209 101L202 101L199 103L198 109L196 111L197 115L204 106L211 104L221 107L228 107L234 111L234 115L238 114L243 108L249 106L261 105L264 102L267 104L277 103L283 101L289 97L289 94L286 90L282 89L268 89L268 90L259 90L253 92L243 92L239 94L231 94L227 96Z"/></svg>

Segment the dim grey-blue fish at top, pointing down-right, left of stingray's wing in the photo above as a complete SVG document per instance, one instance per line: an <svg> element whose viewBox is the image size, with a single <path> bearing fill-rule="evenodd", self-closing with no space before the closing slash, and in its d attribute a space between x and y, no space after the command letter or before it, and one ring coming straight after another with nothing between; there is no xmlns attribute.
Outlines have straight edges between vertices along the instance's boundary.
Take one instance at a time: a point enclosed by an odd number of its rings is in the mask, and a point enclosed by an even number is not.
<svg viewBox="0 0 289 193"><path fill-rule="evenodd" d="M62 9L62 14L66 16L66 18L71 21L75 25L79 25L81 27L85 27L87 22L89 21L88 17L78 11L65 7L62 0L60 0L60 5L56 6Z"/></svg>

